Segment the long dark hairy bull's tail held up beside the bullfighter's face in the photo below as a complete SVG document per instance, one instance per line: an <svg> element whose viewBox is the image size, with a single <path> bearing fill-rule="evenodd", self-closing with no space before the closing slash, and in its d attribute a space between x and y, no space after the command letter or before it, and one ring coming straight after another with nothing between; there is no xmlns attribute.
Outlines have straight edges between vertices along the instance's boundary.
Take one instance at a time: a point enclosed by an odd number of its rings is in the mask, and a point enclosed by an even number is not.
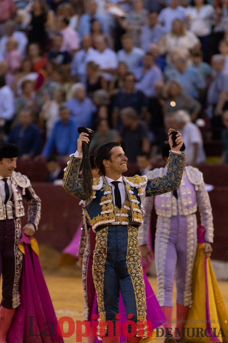
<svg viewBox="0 0 228 343"><path fill-rule="evenodd" d="M89 156L89 148L90 148L90 143L91 140L94 136L94 132L91 129L87 129L85 127L79 127L78 128L78 133L88 133L89 135L89 143L82 143L82 187L83 187L83 192L85 194L85 205L88 205L91 201L92 197L92 186L93 186L93 175L92 175L92 170L91 170L91 165L90 165L90 156Z"/></svg>

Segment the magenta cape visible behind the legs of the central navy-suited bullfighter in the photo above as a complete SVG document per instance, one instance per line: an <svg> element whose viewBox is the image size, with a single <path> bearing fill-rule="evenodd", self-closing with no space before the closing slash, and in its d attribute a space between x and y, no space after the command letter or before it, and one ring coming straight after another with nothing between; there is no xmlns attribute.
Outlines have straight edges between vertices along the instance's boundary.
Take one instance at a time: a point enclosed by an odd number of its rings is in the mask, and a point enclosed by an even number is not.
<svg viewBox="0 0 228 343"><path fill-rule="evenodd" d="M145 288L146 288L146 306L147 306L147 316L146 319L148 321L151 321L152 323L152 330L164 325L165 323L167 323L167 320L162 312L162 309L158 303L158 300L156 298L156 295L153 292L152 287L150 286L150 283L147 279L147 276L145 274L145 272L143 272L143 276L144 276L144 281L145 281ZM97 296L96 296L96 292L95 292L95 297L94 297L94 302L93 302L93 311L92 314L98 314L98 318L99 318L99 312L98 312L98 306L97 306ZM125 321L127 321L127 317L126 317L126 311L125 311L125 307L123 304L123 299L121 297L120 294L120 300L119 300L119 314L121 315L121 328L123 326L123 323ZM92 324L92 323L91 323ZM149 335L152 335L152 332L149 333ZM152 339L155 339L155 333L153 332L153 336ZM150 341L151 338L148 337L147 339L144 339L143 341ZM99 343L100 341L98 341L98 338L96 338L95 343ZM120 343L126 342L126 337L123 335L123 333L121 332L121 336L120 336Z"/></svg>

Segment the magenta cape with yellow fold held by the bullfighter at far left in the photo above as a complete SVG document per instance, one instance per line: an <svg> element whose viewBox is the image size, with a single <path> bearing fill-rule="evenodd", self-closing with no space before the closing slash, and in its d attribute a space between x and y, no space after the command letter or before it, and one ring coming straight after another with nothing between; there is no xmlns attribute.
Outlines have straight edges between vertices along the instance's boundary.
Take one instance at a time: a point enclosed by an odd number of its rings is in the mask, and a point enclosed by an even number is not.
<svg viewBox="0 0 228 343"><path fill-rule="evenodd" d="M22 231L19 248L24 253L21 305L15 311L7 342L64 343L57 333L57 318L40 266L37 241Z"/></svg>

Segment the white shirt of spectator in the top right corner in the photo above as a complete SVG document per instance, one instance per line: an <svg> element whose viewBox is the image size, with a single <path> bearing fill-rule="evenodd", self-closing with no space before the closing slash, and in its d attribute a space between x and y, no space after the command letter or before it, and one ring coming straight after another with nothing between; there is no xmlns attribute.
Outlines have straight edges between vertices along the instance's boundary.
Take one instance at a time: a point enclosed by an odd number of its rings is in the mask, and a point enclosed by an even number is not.
<svg viewBox="0 0 228 343"><path fill-rule="evenodd" d="M199 12L196 7L187 7L185 14L190 19L190 30L198 37L210 35L214 13L214 8L209 4L203 5Z"/></svg>

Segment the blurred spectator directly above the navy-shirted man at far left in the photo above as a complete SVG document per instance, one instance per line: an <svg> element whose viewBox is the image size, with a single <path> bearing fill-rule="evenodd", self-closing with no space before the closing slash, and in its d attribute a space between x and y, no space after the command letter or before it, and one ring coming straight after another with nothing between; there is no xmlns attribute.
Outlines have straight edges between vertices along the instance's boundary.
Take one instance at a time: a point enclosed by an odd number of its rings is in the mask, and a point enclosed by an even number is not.
<svg viewBox="0 0 228 343"><path fill-rule="evenodd" d="M34 107L34 83L30 80L24 80L22 82L22 95L15 100L16 113L27 108L31 111Z"/></svg>

